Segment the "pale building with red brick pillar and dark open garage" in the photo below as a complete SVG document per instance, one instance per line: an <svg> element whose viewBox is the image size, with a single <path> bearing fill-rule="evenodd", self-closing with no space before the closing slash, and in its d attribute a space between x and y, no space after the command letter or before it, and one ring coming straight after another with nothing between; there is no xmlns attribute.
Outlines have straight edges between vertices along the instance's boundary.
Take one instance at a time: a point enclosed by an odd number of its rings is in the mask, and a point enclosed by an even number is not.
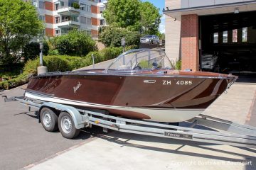
<svg viewBox="0 0 256 170"><path fill-rule="evenodd" d="M166 0L166 54L182 69L215 55L219 72L256 72L255 11L252 0Z"/></svg>

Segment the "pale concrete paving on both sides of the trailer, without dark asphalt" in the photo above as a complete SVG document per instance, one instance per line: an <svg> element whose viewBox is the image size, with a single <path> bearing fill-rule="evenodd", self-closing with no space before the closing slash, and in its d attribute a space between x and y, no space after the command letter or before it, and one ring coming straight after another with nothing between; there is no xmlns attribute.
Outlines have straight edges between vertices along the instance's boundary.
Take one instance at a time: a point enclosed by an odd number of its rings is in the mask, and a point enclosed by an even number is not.
<svg viewBox="0 0 256 170"><path fill-rule="evenodd" d="M256 127L256 85L234 84L208 115ZM229 101L229 102L228 102ZM223 106L224 103L226 106ZM256 169L256 149L110 132L31 165L37 169ZM31 167L28 166L28 167Z"/></svg>

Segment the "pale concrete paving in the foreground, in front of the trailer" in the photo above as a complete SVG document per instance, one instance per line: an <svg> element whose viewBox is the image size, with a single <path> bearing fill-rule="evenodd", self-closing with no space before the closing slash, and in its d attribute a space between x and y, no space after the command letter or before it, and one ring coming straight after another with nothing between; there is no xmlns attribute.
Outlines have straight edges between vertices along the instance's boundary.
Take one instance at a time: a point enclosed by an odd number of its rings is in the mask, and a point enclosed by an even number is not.
<svg viewBox="0 0 256 170"><path fill-rule="evenodd" d="M98 135L46 162L39 169L255 169L255 150L113 132ZM248 165L242 165L246 162ZM240 165L241 164L241 165Z"/></svg>

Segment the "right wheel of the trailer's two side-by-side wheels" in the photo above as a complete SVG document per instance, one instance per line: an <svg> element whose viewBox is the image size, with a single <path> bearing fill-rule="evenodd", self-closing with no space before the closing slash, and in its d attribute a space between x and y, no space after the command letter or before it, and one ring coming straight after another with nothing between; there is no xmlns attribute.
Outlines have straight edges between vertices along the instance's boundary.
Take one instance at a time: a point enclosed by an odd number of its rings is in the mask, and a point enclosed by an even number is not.
<svg viewBox="0 0 256 170"><path fill-rule="evenodd" d="M73 139L80 133L80 130L75 128L72 116L67 112L60 113L58 117L58 128L61 135L68 139Z"/></svg>

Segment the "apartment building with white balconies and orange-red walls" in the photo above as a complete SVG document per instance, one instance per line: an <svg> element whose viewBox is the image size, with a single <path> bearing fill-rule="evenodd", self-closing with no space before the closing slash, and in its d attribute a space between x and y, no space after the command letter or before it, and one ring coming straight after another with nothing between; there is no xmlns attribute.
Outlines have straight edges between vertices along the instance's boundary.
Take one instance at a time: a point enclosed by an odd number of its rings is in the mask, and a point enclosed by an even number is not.
<svg viewBox="0 0 256 170"><path fill-rule="evenodd" d="M97 37L100 26L105 26L102 12L107 1L102 0L32 0L38 17L45 22L44 34L58 36L78 28Z"/></svg>

